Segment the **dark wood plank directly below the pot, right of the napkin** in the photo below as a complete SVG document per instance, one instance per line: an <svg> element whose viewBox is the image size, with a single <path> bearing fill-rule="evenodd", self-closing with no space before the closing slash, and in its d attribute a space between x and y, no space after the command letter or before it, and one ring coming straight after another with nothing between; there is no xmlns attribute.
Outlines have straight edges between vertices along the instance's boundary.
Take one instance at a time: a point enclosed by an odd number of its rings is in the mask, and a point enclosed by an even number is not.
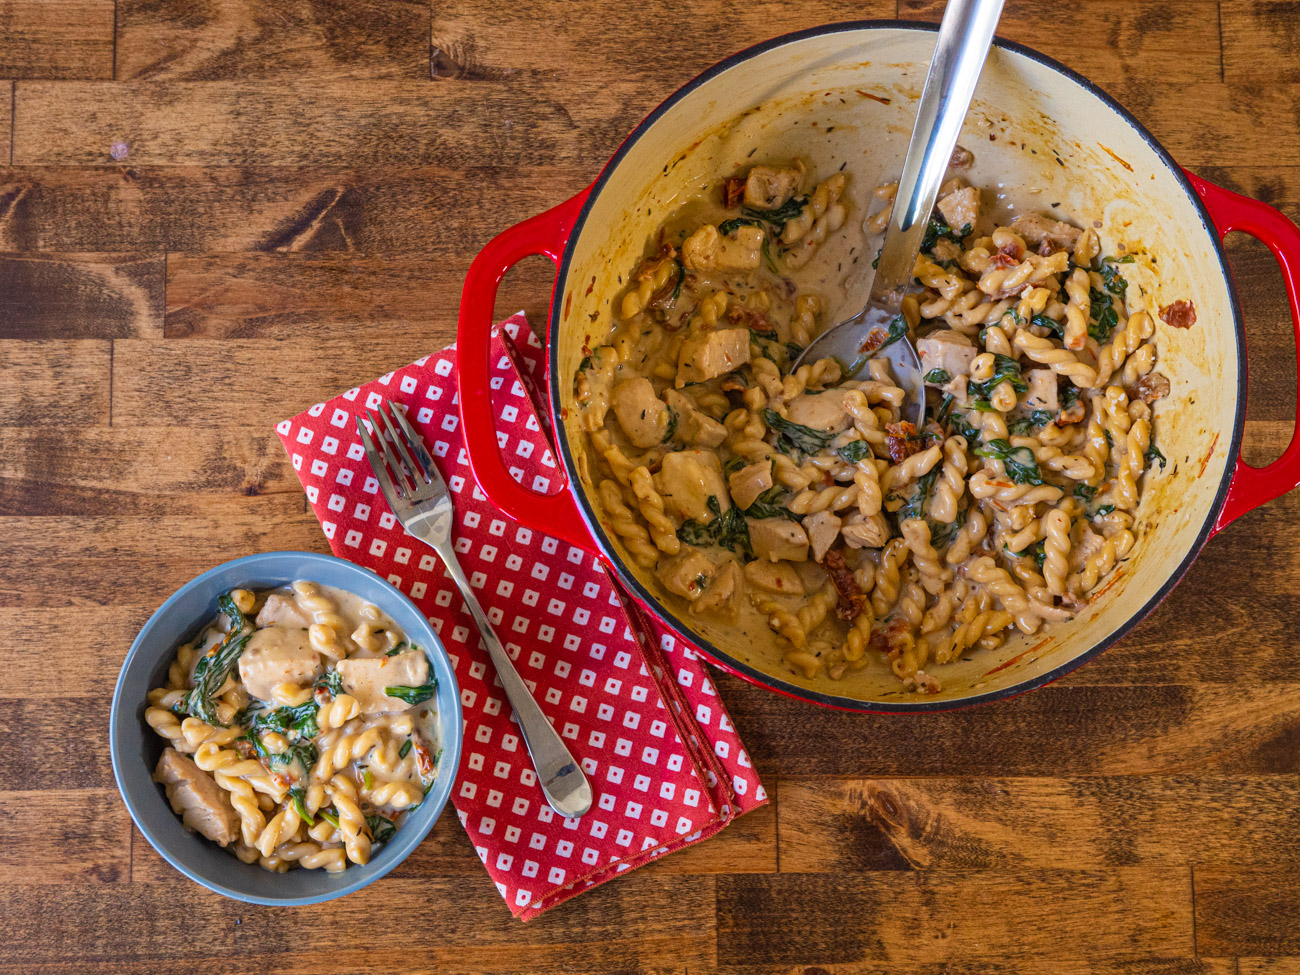
<svg viewBox="0 0 1300 975"><path fill-rule="evenodd" d="M924 724L772 701L771 692L740 681L719 689L766 775L1300 772L1295 684L1062 682L997 705L927 715Z"/></svg>

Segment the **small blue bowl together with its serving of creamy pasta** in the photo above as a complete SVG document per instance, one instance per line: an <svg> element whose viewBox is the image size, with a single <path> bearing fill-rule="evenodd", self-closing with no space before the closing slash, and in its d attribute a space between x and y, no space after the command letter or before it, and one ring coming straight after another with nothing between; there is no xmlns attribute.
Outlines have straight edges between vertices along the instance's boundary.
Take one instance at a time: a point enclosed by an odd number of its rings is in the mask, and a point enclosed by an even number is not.
<svg viewBox="0 0 1300 975"><path fill-rule="evenodd" d="M205 887L326 900L432 828L459 764L458 694L428 620L373 573L308 552L237 559L136 638L114 774L150 842Z"/></svg>

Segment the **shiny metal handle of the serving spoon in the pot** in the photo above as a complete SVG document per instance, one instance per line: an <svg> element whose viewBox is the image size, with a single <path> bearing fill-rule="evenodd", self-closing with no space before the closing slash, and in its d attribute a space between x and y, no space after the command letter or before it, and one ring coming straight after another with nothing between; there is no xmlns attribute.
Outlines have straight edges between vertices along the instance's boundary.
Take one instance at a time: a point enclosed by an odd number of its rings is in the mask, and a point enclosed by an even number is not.
<svg viewBox="0 0 1300 975"><path fill-rule="evenodd" d="M1002 0L948 0L871 285L872 304L893 292L901 300L911 281L930 213L1001 16Z"/></svg>

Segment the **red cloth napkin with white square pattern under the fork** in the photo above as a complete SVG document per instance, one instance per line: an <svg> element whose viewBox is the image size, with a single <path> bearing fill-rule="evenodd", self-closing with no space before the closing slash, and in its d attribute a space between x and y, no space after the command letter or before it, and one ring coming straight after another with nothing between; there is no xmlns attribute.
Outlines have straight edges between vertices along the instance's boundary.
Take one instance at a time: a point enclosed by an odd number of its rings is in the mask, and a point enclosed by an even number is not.
<svg viewBox="0 0 1300 975"><path fill-rule="evenodd" d="M537 372L523 315L502 325ZM532 399L500 335L491 386L498 441L534 490L556 477ZM386 577L433 623L451 655L465 746L451 797L480 859L524 920L610 878L693 845L767 801L703 662L629 602L599 563L508 519L469 472L456 410L455 350L381 376L276 426L335 555ZM407 408L456 499L456 551L489 619L595 790L580 819L546 805L510 706L455 585L402 530L352 415Z"/></svg>

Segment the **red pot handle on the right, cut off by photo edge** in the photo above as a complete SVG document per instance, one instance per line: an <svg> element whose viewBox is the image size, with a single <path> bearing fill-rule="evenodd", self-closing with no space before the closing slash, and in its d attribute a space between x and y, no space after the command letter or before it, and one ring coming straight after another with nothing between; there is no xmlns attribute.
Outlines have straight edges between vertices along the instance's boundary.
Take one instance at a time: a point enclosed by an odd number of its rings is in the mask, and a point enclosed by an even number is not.
<svg viewBox="0 0 1300 975"><path fill-rule="evenodd" d="M1186 169L1183 172L1209 211L1219 238L1240 230L1273 251L1282 270L1287 299L1291 302L1291 325L1295 329L1296 361L1300 365L1300 229L1266 203L1225 190ZM1242 338L1244 343L1245 337ZM1212 534L1218 534L1245 512L1282 497L1297 485L1300 485L1300 400L1296 407L1296 429L1280 458L1268 467L1251 467L1238 456L1227 498L1223 500Z"/></svg>

